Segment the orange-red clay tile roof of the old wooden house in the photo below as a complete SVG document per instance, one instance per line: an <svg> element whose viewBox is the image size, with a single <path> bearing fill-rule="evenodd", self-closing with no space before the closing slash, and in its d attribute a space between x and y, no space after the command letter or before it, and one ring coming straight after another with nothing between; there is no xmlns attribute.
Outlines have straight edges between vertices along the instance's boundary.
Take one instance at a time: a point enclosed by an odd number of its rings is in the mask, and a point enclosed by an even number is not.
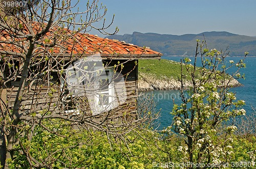
<svg viewBox="0 0 256 169"><path fill-rule="evenodd" d="M74 33L70 30L55 29L46 34L46 38L42 43L51 43L54 41L54 34L60 34L57 43L61 44L62 47L54 46L48 51L52 55L66 54L66 55L92 55L99 54L101 57L130 57L130 58L160 58L162 53L151 50L147 47L139 47L133 44L123 43L117 40L110 40L100 38L94 35ZM67 36L72 35L72 36ZM68 38L67 38L68 37ZM49 38L49 41L47 41ZM5 31L0 30L0 41L10 41L12 39ZM47 40L46 40L47 39ZM18 41L18 40L16 40ZM20 41L20 40L19 40ZM20 42L22 43L22 42ZM24 42L23 42L24 43ZM23 46L26 46L24 44ZM19 47L8 43L0 43L0 50L22 52ZM40 50L40 49L37 49Z"/></svg>

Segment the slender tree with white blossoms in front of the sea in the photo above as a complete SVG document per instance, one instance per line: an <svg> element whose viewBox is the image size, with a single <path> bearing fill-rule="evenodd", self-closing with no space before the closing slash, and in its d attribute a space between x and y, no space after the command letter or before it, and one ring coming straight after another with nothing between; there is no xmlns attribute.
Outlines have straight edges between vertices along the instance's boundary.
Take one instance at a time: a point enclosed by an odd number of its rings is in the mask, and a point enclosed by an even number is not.
<svg viewBox="0 0 256 169"><path fill-rule="evenodd" d="M245 57L247 54L245 52ZM181 61L182 104L175 104L174 100L171 112L174 115L173 124L166 131L174 130L185 137L185 146L180 146L178 151L182 152L183 161L189 164L188 168L193 168L193 164L204 164L207 167L210 163L228 162L232 153L232 139L229 135L236 130L230 119L246 113L241 108L245 101L237 100L229 90L232 80L244 78L239 70L246 66L245 57L234 63L226 61L227 55L227 51L208 50L205 41L201 43L197 40L194 63L190 64L189 58ZM231 67L236 67L236 72L228 74ZM184 86L188 78L184 71L191 78L191 87ZM223 129L224 122L227 122L227 127Z"/></svg>

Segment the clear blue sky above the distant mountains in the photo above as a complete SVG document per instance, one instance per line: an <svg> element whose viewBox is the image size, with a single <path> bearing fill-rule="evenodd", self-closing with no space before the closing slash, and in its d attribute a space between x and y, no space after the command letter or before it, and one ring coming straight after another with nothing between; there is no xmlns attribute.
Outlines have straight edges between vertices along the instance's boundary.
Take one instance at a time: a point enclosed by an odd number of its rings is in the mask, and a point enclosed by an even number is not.
<svg viewBox="0 0 256 169"><path fill-rule="evenodd" d="M227 31L256 36L255 0L99 0L115 14L119 35L141 33L199 34ZM111 32L111 30L109 30ZM98 34L92 32L92 34ZM99 35L102 36L102 35Z"/></svg>

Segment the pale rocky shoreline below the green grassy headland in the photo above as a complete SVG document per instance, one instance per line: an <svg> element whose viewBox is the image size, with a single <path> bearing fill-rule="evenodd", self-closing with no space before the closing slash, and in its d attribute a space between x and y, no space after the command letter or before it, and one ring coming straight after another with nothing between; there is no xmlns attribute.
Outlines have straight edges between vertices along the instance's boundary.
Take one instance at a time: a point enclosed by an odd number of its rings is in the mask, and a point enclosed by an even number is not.
<svg viewBox="0 0 256 169"><path fill-rule="evenodd" d="M191 81L185 81L185 87L192 86ZM229 87L242 86L236 79L230 81ZM156 78L154 75L140 73L138 78L139 91L180 90L180 81L173 78Z"/></svg>

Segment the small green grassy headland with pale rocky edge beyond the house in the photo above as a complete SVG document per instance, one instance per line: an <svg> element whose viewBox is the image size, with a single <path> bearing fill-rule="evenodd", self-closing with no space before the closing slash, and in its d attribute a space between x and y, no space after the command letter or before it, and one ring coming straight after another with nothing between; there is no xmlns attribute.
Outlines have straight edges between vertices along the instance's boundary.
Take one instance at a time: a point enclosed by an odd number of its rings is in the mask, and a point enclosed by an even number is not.
<svg viewBox="0 0 256 169"><path fill-rule="evenodd" d="M184 68L185 69L185 68ZM180 63L161 59L159 60L140 60L138 90L180 90L181 68ZM188 73L185 74L185 87L192 85ZM242 86L236 79L232 79L230 87Z"/></svg>

